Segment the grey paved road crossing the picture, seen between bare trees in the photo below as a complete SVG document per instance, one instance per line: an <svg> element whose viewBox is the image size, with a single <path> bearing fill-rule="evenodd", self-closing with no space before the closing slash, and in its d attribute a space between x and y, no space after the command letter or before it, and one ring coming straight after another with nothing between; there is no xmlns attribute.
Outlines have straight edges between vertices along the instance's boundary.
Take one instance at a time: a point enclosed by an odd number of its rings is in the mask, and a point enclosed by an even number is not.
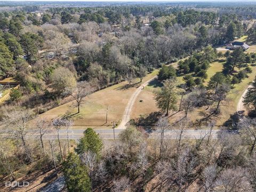
<svg viewBox="0 0 256 192"><path fill-rule="evenodd" d="M121 133L124 129L115 129L115 138L118 139L119 133ZM83 136L83 132L85 130L68 130L69 139L79 139ZM102 130L95 130L97 133L99 133L102 137L102 139L114 139L114 130L113 129L102 129ZM212 138L217 138L219 130L212 130ZM147 130L147 133L149 134L149 139L156 139L161 136L161 133L159 131L155 130ZM165 130L164 138L165 139L176 139L178 137L179 130ZM2 134L3 136L6 135L8 137L8 134ZM39 139L39 133L37 130L29 130L26 134L27 137L30 139ZM209 135L209 130L201 129L201 130L186 130L182 138L183 139L200 139L204 135ZM59 137L60 139L67 139L67 131L66 130L60 130L59 131ZM49 139L57 139L57 132L51 131L47 132L44 137L44 140Z"/></svg>

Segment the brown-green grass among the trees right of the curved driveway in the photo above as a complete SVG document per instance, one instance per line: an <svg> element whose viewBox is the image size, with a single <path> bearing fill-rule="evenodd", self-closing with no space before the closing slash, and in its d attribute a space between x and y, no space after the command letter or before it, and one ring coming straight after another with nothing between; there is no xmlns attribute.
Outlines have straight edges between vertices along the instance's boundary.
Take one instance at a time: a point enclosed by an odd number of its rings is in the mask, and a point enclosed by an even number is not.
<svg viewBox="0 0 256 192"><path fill-rule="evenodd" d="M256 45L253 45L251 48L250 50L248 50L248 52L253 52L254 49L256 51ZM205 80L205 85L207 85L207 82L210 81L210 78L216 72L222 70L223 63L224 62L216 61L211 64L211 67L207 70L208 78ZM245 78L241 83L235 85L234 89L230 91L230 94L228 95L228 101L222 103L223 106L221 106L221 114L217 118L215 118L215 120L217 121L217 125L222 125L225 121L227 121L229 116L236 111L239 99L241 98L248 84L253 81L256 75L256 67L252 67L252 71L253 72L251 74L248 74L249 78ZM178 77L178 81L179 83L182 83L182 77ZM140 115L150 114L151 112L159 110L157 109L156 102L154 100L154 91L157 89L159 89L159 87L154 87L154 85L148 85L145 87L145 90L140 93L137 101L135 102L131 118L139 117ZM142 102L140 102L140 100L142 100ZM191 119L191 121L195 122L196 119L202 118L204 114L209 113L209 109L206 109L207 107L202 107L191 111L188 117ZM182 116L182 112L175 115L175 117L173 116L173 118L179 118L180 116Z"/></svg>

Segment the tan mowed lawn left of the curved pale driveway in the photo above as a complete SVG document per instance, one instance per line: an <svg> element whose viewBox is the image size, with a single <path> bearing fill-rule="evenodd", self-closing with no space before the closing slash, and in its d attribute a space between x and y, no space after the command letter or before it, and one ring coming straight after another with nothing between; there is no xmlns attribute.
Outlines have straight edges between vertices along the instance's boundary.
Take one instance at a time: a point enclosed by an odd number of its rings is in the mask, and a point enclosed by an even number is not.
<svg viewBox="0 0 256 192"><path fill-rule="evenodd" d="M142 82L153 78L157 72L158 70L155 70L153 73L148 74L143 78ZM79 127L84 128L84 126L112 126L113 121L118 124L121 122L131 95L140 86L139 82L140 80L137 78L134 79L132 85L125 81L92 93L82 103L79 114L76 114L76 103L68 102L46 111L44 114L39 115L39 117L52 121L52 119L57 117L70 116L69 118L73 119L76 129Z"/></svg>

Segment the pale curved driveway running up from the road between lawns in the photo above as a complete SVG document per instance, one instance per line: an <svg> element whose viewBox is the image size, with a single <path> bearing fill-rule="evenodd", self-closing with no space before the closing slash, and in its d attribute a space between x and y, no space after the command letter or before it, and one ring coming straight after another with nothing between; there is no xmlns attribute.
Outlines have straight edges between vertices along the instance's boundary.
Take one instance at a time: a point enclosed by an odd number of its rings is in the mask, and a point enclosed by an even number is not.
<svg viewBox="0 0 256 192"><path fill-rule="evenodd" d="M130 117L131 117L131 112L132 112L132 108L133 105L138 97L138 95L140 94L141 90L148 85L148 83L150 81L152 81L154 78L156 78L156 76L154 76L153 78L149 79L148 81L146 81L145 83L143 83L142 85L140 85L137 90L132 94L132 97L129 99L127 106L124 110L124 115L122 118L121 123L119 124L119 126L117 127L117 129L125 129L126 128L126 124L130 121Z"/></svg>

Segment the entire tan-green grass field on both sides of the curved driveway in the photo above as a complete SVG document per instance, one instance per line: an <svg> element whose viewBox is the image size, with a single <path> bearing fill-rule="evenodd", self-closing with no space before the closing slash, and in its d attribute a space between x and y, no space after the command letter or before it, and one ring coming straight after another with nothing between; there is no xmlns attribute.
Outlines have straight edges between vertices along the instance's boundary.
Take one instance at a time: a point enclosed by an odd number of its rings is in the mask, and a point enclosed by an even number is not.
<svg viewBox="0 0 256 192"><path fill-rule="evenodd" d="M241 41L245 41L245 37L242 37ZM247 52L256 51L256 46L253 45ZM186 58L185 58L186 59ZM174 67L177 67L177 63L172 63ZM209 82L210 78L217 72L222 70L223 61L211 63L210 68L207 70L208 78L205 80L205 85ZM225 103L225 106L221 107L222 114L218 117L218 125L221 125L226 121L230 114L236 111L237 102L241 97L242 93L247 87L247 84L251 82L256 75L256 67L252 67L253 73L249 74L249 78L243 80L235 86L229 95L229 101ZM143 78L142 82L148 81L148 79L153 78L157 75L158 69L154 70L153 73L148 74ZM183 83L182 77L178 77L179 83ZM42 118L46 118L48 121L51 121L56 117L71 116L74 120L74 126L77 128L92 126L92 127L105 127L111 126L112 122L119 123L122 119L125 107L129 101L132 93L140 86L139 79L135 79L132 85L129 85L128 82L122 82L117 85L107 87L106 89L97 91L88 98L85 99L84 103L81 106L81 113L76 113L75 103L69 102L65 105L56 107L47 111L46 113L40 115ZM141 115L147 115L151 112L158 111L159 109L156 106L154 100L154 91L161 87L161 83L156 80L151 81L145 89L139 94L137 100L134 103L133 110L131 113L131 118L136 118ZM106 123L106 114L108 110L108 119ZM197 109L190 113L190 118L192 120L203 117L204 113L207 113L204 108Z"/></svg>

